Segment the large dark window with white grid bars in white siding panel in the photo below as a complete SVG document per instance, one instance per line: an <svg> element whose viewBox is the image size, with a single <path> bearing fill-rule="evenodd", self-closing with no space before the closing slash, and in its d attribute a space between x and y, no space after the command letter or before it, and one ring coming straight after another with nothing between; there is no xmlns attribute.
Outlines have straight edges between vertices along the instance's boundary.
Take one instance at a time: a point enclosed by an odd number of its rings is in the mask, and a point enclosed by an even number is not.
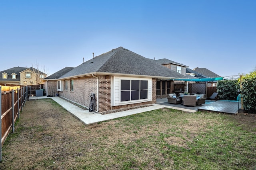
<svg viewBox="0 0 256 170"><path fill-rule="evenodd" d="M147 80L121 80L121 102L147 98Z"/></svg>

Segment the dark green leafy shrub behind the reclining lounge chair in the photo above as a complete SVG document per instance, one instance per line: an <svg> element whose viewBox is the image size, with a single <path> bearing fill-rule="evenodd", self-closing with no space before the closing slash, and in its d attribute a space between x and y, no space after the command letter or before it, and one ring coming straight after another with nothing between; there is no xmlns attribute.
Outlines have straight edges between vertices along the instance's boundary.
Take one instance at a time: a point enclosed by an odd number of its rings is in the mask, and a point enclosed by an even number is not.
<svg viewBox="0 0 256 170"><path fill-rule="evenodd" d="M236 100L239 88L238 80L222 80L218 81L217 92L221 100Z"/></svg>

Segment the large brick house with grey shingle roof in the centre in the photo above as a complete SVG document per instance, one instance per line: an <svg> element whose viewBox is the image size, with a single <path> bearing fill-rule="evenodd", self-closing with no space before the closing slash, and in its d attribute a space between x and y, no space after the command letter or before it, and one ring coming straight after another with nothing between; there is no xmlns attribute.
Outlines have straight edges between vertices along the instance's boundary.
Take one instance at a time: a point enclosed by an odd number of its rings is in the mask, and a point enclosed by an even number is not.
<svg viewBox="0 0 256 170"><path fill-rule="evenodd" d="M57 90L60 97L85 107L94 93L100 113L154 104L158 90L164 96L174 90L170 79L186 78L123 47L93 57L58 78L49 77L44 82L46 92ZM158 89L157 80L163 80L162 88ZM49 81L55 81L56 88L48 86Z"/></svg>

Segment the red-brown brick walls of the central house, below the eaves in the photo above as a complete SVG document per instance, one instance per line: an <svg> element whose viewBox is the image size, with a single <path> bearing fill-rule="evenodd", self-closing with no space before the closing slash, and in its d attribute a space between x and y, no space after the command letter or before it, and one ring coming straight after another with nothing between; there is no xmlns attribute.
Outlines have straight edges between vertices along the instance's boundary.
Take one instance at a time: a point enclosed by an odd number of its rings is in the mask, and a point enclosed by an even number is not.
<svg viewBox="0 0 256 170"><path fill-rule="evenodd" d="M152 79L152 101L138 104L127 104L122 106L111 106L111 76L100 75L97 77L99 78L99 96L97 96L97 79L92 76L73 79L74 91L70 90L70 80L68 80L68 90L63 90L63 92L58 93L60 97L66 98L72 102L75 102L77 104L80 104L81 106L86 107L90 105L91 93L94 93L96 97L95 111L97 109L97 100L99 100L99 113L102 114L116 109L126 109L130 107L138 107L156 103L156 79ZM51 84L50 89L53 88L54 90L56 90L56 81L48 81L48 86L49 82ZM62 83L64 87L65 81L62 80Z"/></svg>

